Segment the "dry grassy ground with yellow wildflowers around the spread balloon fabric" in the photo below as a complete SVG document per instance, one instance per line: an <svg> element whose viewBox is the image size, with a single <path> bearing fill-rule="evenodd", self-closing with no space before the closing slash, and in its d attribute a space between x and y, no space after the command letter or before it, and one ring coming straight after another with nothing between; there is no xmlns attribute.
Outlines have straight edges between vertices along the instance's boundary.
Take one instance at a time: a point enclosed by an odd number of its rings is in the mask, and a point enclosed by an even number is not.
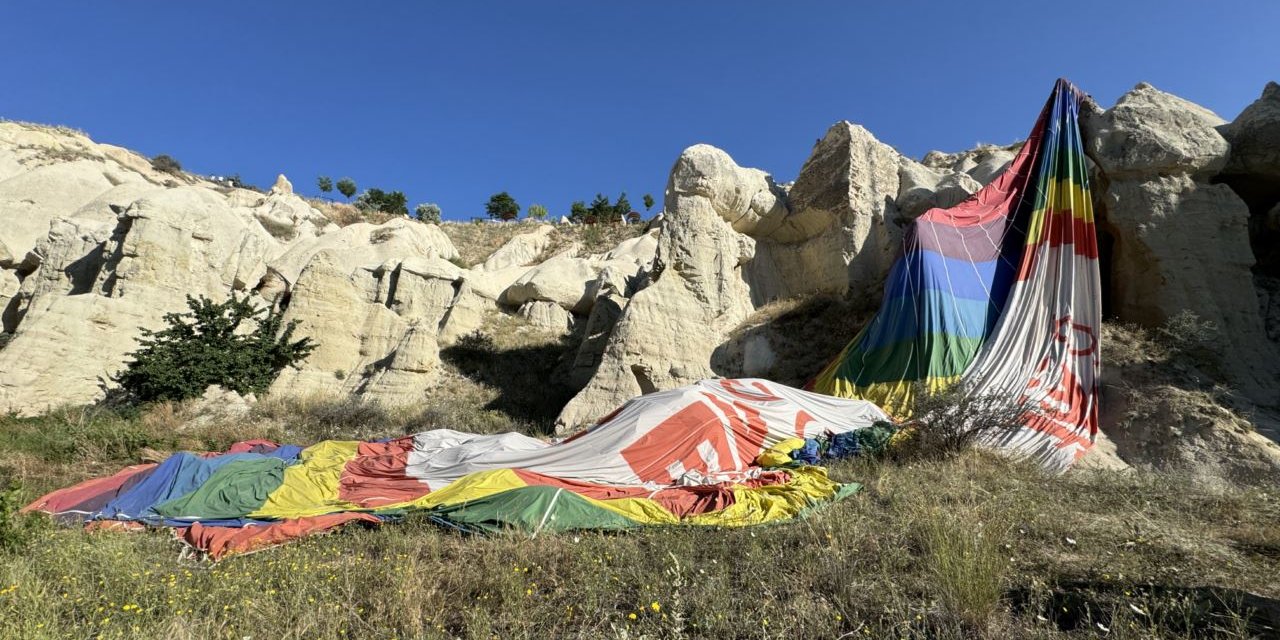
<svg viewBox="0 0 1280 640"><path fill-rule="evenodd" d="M174 406L4 419L0 468L29 499L147 447L367 438L440 420L529 429L447 404L388 413L265 402L178 435L189 416ZM0 636L920 637L984 626L995 637L1059 637L1059 626L1102 636L1101 622L1108 637L1248 637L1257 604L1243 593L1280 596L1274 486L1044 477L977 453L832 474L867 490L808 521L751 530L466 538L408 522L207 564L183 559L163 532L41 526L0 552Z"/></svg>

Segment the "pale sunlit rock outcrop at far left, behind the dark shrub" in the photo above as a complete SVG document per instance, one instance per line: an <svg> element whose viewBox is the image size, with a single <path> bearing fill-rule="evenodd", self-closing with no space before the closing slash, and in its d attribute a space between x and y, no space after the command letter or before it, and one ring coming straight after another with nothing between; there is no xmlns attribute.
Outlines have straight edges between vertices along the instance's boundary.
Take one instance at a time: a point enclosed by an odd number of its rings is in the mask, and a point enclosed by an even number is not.
<svg viewBox="0 0 1280 640"><path fill-rule="evenodd" d="M257 282L274 251L260 225L200 187L133 202L106 236L93 223L55 220L19 292L15 334L0 351L0 410L97 399L141 328L183 310L187 294L221 300Z"/></svg>

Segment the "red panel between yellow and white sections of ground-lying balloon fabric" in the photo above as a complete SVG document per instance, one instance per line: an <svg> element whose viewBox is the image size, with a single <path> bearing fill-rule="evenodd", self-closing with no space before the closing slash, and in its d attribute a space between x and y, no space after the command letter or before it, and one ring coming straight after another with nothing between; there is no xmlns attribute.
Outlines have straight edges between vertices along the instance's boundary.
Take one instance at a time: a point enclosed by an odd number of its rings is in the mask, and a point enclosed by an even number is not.
<svg viewBox="0 0 1280 640"><path fill-rule="evenodd" d="M412 451L411 435L389 442L360 443L356 457L342 470L338 497L364 508L376 508L426 495L430 492L426 483L404 475Z"/></svg>

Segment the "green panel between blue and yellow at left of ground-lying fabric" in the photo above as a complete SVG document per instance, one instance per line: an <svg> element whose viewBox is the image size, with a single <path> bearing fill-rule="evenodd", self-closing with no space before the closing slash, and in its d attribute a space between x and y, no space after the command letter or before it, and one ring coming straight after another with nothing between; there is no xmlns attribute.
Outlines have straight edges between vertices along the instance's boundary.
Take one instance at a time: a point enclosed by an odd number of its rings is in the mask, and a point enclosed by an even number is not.
<svg viewBox="0 0 1280 640"><path fill-rule="evenodd" d="M163 517L182 520L239 518L257 511L284 483L280 458L238 460L209 476L198 489L155 507Z"/></svg>

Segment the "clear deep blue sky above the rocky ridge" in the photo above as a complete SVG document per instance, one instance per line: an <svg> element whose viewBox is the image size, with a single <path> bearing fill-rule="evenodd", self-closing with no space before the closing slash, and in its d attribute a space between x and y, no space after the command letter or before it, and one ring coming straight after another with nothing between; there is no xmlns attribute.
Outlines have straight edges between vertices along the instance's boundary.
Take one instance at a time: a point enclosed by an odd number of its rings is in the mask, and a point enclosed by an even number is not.
<svg viewBox="0 0 1280 640"><path fill-rule="evenodd" d="M794 179L832 123L922 156L1024 136L1065 76L1234 118L1280 79L1280 3L6 1L0 116L269 186L662 201L708 142Z"/></svg>

